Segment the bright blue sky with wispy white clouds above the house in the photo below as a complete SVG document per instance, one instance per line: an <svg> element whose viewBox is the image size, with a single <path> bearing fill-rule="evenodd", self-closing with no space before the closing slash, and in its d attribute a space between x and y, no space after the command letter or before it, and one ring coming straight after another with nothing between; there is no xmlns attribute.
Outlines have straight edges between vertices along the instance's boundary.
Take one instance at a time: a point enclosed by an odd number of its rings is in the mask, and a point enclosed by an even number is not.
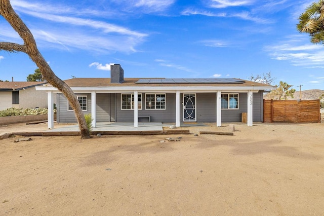
<svg viewBox="0 0 324 216"><path fill-rule="evenodd" d="M240 78L270 72L299 90L324 89L324 46L296 29L314 1L12 0L38 49L62 80ZM0 17L0 41L22 44ZM0 80L26 81L36 65L0 51Z"/></svg>

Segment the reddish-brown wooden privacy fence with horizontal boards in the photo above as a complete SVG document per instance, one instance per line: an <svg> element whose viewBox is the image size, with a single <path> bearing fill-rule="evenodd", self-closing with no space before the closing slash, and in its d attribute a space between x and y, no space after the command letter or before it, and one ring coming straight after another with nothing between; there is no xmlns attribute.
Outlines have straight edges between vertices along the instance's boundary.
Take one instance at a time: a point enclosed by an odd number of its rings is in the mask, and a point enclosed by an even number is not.
<svg viewBox="0 0 324 216"><path fill-rule="evenodd" d="M263 100L263 122L319 123L319 99Z"/></svg>

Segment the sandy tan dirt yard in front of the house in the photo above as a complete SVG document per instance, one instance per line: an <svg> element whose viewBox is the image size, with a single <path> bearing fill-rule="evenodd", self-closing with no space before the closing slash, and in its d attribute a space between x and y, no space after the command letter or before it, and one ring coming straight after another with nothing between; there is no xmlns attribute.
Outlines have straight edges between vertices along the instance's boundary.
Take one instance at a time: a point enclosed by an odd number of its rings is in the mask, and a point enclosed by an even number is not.
<svg viewBox="0 0 324 216"><path fill-rule="evenodd" d="M228 128L0 140L0 215L323 214L323 123Z"/></svg>

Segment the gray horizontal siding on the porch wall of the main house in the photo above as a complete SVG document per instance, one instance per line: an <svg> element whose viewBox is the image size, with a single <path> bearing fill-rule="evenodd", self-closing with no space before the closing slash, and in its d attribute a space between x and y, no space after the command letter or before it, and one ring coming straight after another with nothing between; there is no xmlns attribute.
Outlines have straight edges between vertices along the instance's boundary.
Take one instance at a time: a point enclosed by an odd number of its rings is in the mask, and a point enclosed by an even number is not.
<svg viewBox="0 0 324 216"><path fill-rule="evenodd" d="M140 93L140 92L139 92ZM153 94L154 92L152 92ZM88 100L88 111L91 113L91 94L86 95ZM145 110L145 94L142 93L142 110L139 116L150 116L152 122L175 122L176 121L176 94L166 94L166 110ZM133 122L134 110L121 110L120 93L97 93L97 122ZM196 120L198 122L216 122L216 93L196 94ZM222 110L222 122L240 122L241 113L247 112L247 93L239 93L238 110ZM183 94L180 94L180 120L183 119ZM67 111L67 100L62 93L57 96L58 122L76 122L73 111ZM263 92L253 94L253 121L263 119ZM141 121L141 119L140 119ZM147 121L143 119L143 121Z"/></svg>

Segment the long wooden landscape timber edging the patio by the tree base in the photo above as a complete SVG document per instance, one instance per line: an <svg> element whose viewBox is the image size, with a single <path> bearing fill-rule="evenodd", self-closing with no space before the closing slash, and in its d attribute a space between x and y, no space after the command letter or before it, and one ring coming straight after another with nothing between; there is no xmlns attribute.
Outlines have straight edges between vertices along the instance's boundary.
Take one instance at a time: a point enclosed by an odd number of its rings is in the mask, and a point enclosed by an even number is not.
<svg viewBox="0 0 324 216"><path fill-rule="evenodd" d="M160 134L189 134L189 130L148 130L148 131L93 131L92 135L160 135ZM43 132L13 132L19 136L79 136L78 131L43 131Z"/></svg>

